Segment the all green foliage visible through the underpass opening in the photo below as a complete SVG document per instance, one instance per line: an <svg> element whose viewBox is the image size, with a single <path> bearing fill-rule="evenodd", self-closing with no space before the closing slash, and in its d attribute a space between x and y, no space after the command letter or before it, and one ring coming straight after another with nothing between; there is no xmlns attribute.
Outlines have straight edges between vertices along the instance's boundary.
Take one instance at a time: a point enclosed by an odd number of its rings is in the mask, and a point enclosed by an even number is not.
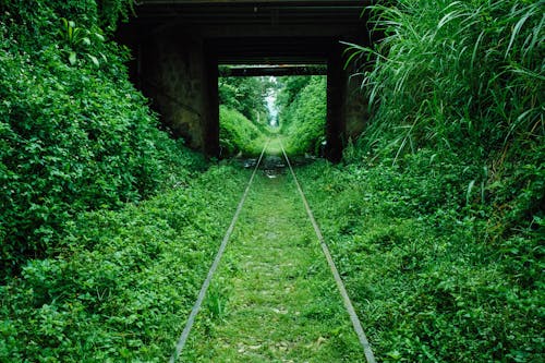
<svg viewBox="0 0 545 363"><path fill-rule="evenodd" d="M289 154L319 154L325 141L326 78L320 76L220 78L220 144L223 155L258 154L271 133L282 135ZM265 108L275 93L279 129L269 128ZM242 118L241 118L242 117Z"/></svg>

